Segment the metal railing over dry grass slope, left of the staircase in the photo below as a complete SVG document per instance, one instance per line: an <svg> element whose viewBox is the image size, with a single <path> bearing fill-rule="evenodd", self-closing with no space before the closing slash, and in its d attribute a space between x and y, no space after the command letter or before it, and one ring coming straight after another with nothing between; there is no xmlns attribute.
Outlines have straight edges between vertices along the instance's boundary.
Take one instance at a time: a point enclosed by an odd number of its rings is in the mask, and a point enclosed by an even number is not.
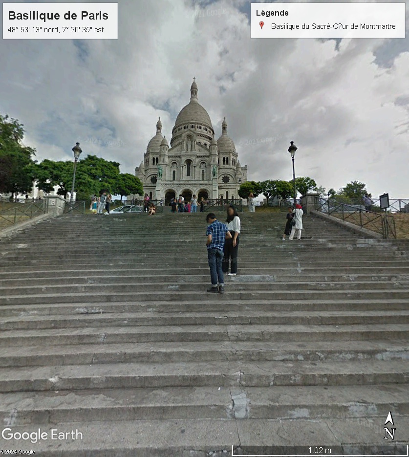
<svg viewBox="0 0 409 457"><path fill-rule="evenodd" d="M48 212L48 199L15 203L0 200L0 229L17 225Z"/></svg>

